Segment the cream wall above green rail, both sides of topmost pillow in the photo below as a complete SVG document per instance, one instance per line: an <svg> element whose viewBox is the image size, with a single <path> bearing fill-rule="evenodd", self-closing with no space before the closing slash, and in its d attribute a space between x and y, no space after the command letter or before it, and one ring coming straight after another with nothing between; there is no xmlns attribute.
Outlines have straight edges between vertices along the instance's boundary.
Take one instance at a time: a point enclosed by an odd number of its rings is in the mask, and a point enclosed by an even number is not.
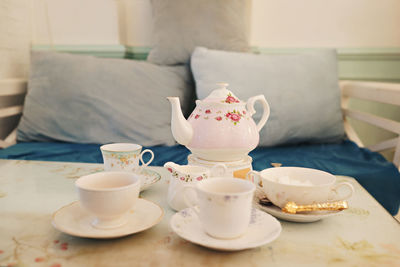
<svg viewBox="0 0 400 267"><path fill-rule="evenodd" d="M35 44L152 44L150 0L32 0ZM261 47L399 47L399 0L253 0L251 43Z"/></svg>

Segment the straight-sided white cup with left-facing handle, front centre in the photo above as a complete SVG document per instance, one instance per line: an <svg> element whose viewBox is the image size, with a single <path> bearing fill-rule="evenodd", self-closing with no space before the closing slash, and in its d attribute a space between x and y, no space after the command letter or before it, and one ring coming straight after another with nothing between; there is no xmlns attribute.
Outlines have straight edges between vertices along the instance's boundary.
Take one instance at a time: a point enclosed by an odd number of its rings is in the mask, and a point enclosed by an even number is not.
<svg viewBox="0 0 400 267"><path fill-rule="evenodd" d="M249 227L256 187L253 183L227 177L202 180L185 186L184 199L197 213L204 231L218 239L242 236ZM187 198L195 191L197 201Z"/></svg>

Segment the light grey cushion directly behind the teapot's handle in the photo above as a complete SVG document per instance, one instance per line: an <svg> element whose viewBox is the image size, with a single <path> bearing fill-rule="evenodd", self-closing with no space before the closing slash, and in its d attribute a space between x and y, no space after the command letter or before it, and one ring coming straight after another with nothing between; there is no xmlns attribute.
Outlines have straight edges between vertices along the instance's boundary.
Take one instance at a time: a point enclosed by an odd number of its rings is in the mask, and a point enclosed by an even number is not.
<svg viewBox="0 0 400 267"><path fill-rule="evenodd" d="M343 138L335 50L294 55L256 55L196 48L191 58L197 96L227 82L241 100L265 95L271 109L261 146L336 142ZM256 108L255 121L262 110Z"/></svg>

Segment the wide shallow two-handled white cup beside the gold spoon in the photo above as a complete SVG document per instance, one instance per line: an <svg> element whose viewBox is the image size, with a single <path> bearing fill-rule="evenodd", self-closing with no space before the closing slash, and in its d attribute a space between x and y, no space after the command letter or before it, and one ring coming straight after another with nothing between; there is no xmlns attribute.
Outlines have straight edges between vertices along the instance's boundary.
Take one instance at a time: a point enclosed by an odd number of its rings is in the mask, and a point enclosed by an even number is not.
<svg viewBox="0 0 400 267"><path fill-rule="evenodd" d="M352 196L354 188L350 183L336 184L336 177L330 173L300 167L269 168L261 172L251 171L247 179L259 184L267 198L283 208L289 201L299 205L345 200ZM340 187L347 192L339 192Z"/></svg>

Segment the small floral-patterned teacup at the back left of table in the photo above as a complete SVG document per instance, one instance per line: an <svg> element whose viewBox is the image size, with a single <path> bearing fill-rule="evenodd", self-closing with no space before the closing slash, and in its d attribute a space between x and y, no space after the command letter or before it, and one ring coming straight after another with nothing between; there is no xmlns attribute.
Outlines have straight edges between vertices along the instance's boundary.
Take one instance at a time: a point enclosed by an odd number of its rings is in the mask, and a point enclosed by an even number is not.
<svg viewBox="0 0 400 267"><path fill-rule="evenodd" d="M154 153L150 149L142 151L142 146L129 143L107 144L100 147L103 155L105 171L129 171L139 172L141 168L148 166L154 159ZM141 152L141 153L140 153ZM143 162L143 155L150 153L151 158ZM139 166L139 160L142 165Z"/></svg>

